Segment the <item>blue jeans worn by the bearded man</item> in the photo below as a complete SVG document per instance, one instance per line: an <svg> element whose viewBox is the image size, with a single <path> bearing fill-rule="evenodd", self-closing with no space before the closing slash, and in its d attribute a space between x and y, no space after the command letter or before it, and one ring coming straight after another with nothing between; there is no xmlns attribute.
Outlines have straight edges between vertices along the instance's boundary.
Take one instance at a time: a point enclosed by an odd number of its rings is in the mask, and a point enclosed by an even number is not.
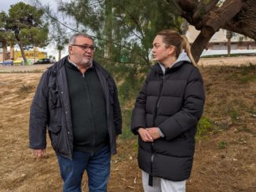
<svg viewBox="0 0 256 192"><path fill-rule="evenodd" d="M58 154L57 158L64 181L64 192L81 192L82 174L85 170L90 192L107 191L111 160L109 146L95 154L74 151L73 160L62 158Z"/></svg>

